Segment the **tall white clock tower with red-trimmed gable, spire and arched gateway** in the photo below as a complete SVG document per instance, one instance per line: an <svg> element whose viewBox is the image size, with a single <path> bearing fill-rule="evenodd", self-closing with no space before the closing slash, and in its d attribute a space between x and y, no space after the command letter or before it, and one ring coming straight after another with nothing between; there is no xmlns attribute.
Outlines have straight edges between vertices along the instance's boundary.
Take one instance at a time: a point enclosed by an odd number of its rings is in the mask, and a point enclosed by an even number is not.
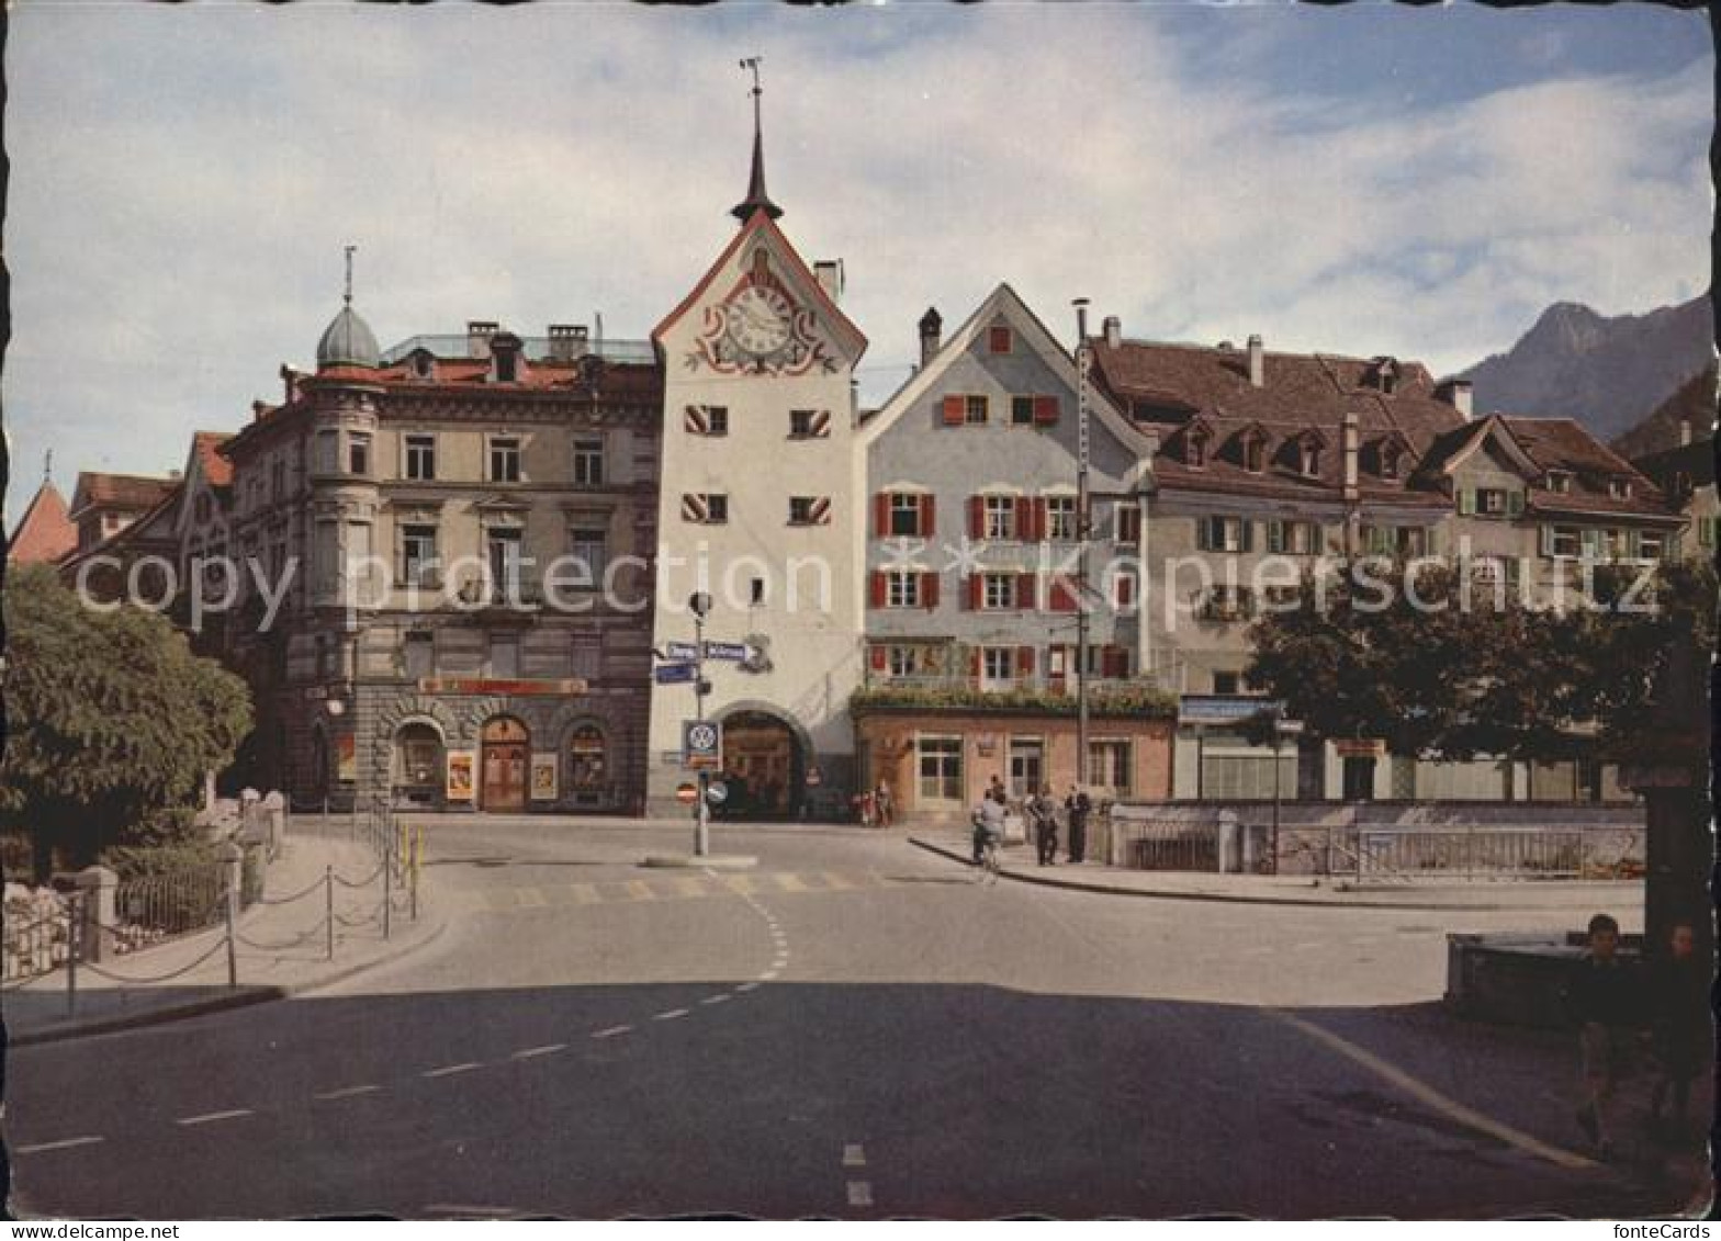
<svg viewBox="0 0 1721 1241"><path fill-rule="evenodd" d="M757 69L756 69L757 74ZM652 332L664 365L654 647L694 642L711 596L704 713L725 726L726 809L821 816L854 790L848 695L860 682L862 458L852 377L866 337L838 308L842 267L814 274L764 188L759 86L740 220ZM685 645L682 647L685 651ZM688 683L656 685L652 812L685 812L676 750Z"/></svg>

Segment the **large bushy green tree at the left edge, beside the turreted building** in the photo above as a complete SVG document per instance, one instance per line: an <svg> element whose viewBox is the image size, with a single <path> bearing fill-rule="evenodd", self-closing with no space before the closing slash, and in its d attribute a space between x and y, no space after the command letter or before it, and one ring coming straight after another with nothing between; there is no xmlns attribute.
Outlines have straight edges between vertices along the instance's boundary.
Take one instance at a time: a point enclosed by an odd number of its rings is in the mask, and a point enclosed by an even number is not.
<svg viewBox="0 0 1721 1241"><path fill-rule="evenodd" d="M31 831L38 878L57 852L182 838L203 775L251 732L244 682L155 613L86 608L48 566L7 575L5 613L0 816Z"/></svg>

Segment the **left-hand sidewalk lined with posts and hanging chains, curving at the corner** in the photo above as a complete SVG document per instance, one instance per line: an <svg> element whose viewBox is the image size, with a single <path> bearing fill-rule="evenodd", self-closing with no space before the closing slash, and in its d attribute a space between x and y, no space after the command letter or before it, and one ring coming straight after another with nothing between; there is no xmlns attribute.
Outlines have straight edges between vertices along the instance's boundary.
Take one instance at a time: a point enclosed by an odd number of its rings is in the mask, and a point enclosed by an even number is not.
<svg viewBox="0 0 1721 1241"><path fill-rule="evenodd" d="M329 867L336 876L332 959L324 881ZM392 893L384 938L382 880L370 850L346 840L289 837L268 867L262 900L234 928L237 986L227 983L225 929L213 926L95 966L79 964L71 1012L64 967L7 986L0 991L7 1041L28 1047L279 1000L396 960L434 940L446 924L446 902L437 900L427 878L420 880L416 923L408 893Z"/></svg>

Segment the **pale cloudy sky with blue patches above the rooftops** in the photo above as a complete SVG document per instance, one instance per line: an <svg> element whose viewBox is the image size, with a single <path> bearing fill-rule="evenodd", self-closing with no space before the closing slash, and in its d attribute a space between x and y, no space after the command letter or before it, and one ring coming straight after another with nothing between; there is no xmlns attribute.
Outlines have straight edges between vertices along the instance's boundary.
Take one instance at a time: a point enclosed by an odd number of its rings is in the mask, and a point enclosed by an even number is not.
<svg viewBox="0 0 1721 1241"><path fill-rule="evenodd" d="M1058 336L1391 353L1709 282L1714 52L1657 5L711 9L19 0L5 48L9 527L46 449L181 468L308 367L499 320L645 339L766 167L842 258L862 401L1009 281Z"/></svg>

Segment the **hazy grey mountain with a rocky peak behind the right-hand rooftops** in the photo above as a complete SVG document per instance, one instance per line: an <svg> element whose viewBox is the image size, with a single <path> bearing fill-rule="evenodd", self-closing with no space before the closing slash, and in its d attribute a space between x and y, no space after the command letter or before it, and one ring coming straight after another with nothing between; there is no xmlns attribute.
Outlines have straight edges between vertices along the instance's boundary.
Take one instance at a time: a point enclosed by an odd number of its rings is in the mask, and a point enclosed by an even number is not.
<svg viewBox="0 0 1721 1241"><path fill-rule="evenodd" d="M1558 301L1508 351L1463 372L1477 413L1570 417L1609 441L1647 417L1714 356L1709 296L1607 318Z"/></svg>

